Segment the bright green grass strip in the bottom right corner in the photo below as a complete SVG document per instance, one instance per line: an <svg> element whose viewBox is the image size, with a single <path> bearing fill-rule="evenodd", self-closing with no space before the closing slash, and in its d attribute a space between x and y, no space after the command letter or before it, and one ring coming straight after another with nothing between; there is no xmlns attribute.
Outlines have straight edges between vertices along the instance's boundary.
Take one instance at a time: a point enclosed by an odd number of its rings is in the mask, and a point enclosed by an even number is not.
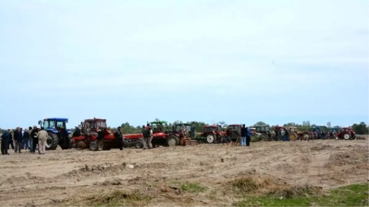
<svg viewBox="0 0 369 207"><path fill-rule="evenodd" d="M331 190L325 195L311 195L309 190L300 189L301 193L288 193L289 198L281 192L266 196L246 196L244 200L234 203L235 207L365 207L369 206L369 184L349 185Z"/></svg>

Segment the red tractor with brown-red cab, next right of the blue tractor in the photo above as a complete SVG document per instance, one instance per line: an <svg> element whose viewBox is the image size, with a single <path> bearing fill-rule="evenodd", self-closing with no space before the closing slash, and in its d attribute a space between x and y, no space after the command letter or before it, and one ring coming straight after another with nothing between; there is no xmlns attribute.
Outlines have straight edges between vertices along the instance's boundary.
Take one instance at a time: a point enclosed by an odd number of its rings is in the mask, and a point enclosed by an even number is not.
<svg viewBox="0 0 369 207"><path fill-rule="evenodd" d="M92 151L97 150L110 150L111 148L120 148L123 145L120 133L115 131L112 133L106 125L106 119L85 119L81 122L82 129L89 123L91 134L85 136L85 134L73 134L73 140L75 147L87 148L89 147ZM83 131L82 131L83 132Z"/></svg>

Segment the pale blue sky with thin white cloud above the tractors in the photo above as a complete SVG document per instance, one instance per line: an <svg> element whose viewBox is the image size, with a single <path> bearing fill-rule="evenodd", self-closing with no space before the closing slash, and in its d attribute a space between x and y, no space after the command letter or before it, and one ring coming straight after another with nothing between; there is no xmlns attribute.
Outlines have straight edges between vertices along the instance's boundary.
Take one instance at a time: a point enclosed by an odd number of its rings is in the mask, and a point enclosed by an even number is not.
<svg viewBox="0 0 369 207"><path fill-rule="evenodd" d="M369 122L368 10L365 0L2 0L0 127Z"/></svg>

